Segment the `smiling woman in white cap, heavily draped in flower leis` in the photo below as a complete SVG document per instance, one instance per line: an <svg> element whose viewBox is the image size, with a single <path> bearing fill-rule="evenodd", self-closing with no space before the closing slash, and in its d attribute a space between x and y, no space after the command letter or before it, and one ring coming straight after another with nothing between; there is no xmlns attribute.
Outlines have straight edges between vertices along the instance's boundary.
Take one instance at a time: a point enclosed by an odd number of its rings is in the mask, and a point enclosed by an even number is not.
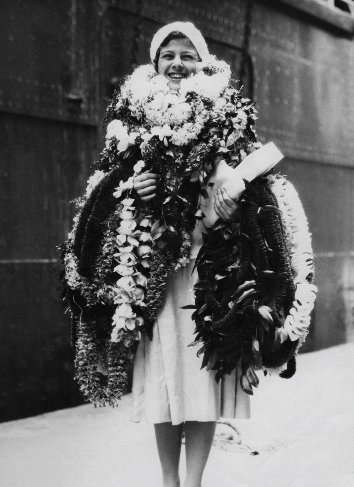
<svg viewBox="0 0 354 487"><path fill-rule="evenodd" d="M254 104L190 23L160 29L150 56L107 109L106 147L63 246L66 292L82 391L115 405L136 351L131 420L154 424L164 487L180 485L184 428L185 487L200 487L216 421L249 417L256 371L295 372L312 254L301 205L294 218L296 198L269 173L241 202L218 188L206 228L213 171L260 146Z"/></svg>

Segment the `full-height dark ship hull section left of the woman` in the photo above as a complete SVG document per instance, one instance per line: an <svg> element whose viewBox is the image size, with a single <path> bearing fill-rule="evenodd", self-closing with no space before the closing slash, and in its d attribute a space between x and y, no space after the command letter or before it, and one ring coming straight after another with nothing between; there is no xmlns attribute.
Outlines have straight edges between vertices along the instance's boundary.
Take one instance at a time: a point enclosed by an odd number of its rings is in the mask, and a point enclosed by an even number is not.
<svg viewBox="0 0 354 487"><path fill-rule="evenodd" d="M0 420L81 403L56 287L96 153L94 15L75 1L2 2ZM91 25L89 21L91 20Z"/></svg>

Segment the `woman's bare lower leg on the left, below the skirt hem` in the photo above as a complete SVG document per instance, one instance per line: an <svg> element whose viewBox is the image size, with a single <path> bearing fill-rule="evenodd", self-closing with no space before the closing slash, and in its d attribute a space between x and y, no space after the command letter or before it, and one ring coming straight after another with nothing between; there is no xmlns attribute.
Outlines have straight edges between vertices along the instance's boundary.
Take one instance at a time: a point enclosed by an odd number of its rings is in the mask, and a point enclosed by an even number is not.
<svg viewBox="0 0 354 487"><path fill-rule="evenodd" d="M154 428L164 487L179 487L178 466L183 423L158 423L154 424Z"/></svg>

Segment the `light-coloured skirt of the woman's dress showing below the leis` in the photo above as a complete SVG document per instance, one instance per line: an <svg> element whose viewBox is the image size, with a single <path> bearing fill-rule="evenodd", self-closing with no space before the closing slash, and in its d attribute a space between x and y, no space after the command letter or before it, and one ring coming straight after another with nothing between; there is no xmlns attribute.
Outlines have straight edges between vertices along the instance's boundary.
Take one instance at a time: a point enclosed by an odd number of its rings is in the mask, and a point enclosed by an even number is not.
<svg viewBox="0 0 354 487"><path fill-rule="evenodd" d="M133 413L131 421L180 424L184 421L216 421L220 417L250 417L250 398L240 385L240 369L217 384L215 370L201 369L201 345L195 340L192 310L180 307L194 303L192 274L201 245L201 225L192 234L190 262L166 282L165 299L153 326L153 339L143 335L133 371Z"/></svg>

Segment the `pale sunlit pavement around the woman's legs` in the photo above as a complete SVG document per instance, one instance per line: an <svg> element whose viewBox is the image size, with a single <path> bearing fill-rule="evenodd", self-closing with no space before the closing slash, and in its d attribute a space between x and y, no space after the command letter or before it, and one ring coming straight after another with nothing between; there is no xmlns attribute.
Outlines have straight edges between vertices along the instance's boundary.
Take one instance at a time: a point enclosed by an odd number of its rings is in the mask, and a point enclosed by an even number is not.
<svg viewBox="0 0 354 487"><path fill-rule="evenodd" d="M253 418L218 426L203 487L353 487L354 343L260 378ZM130 402L0 424L0 486L160 487L153 427L129 422Z"/></svg>

